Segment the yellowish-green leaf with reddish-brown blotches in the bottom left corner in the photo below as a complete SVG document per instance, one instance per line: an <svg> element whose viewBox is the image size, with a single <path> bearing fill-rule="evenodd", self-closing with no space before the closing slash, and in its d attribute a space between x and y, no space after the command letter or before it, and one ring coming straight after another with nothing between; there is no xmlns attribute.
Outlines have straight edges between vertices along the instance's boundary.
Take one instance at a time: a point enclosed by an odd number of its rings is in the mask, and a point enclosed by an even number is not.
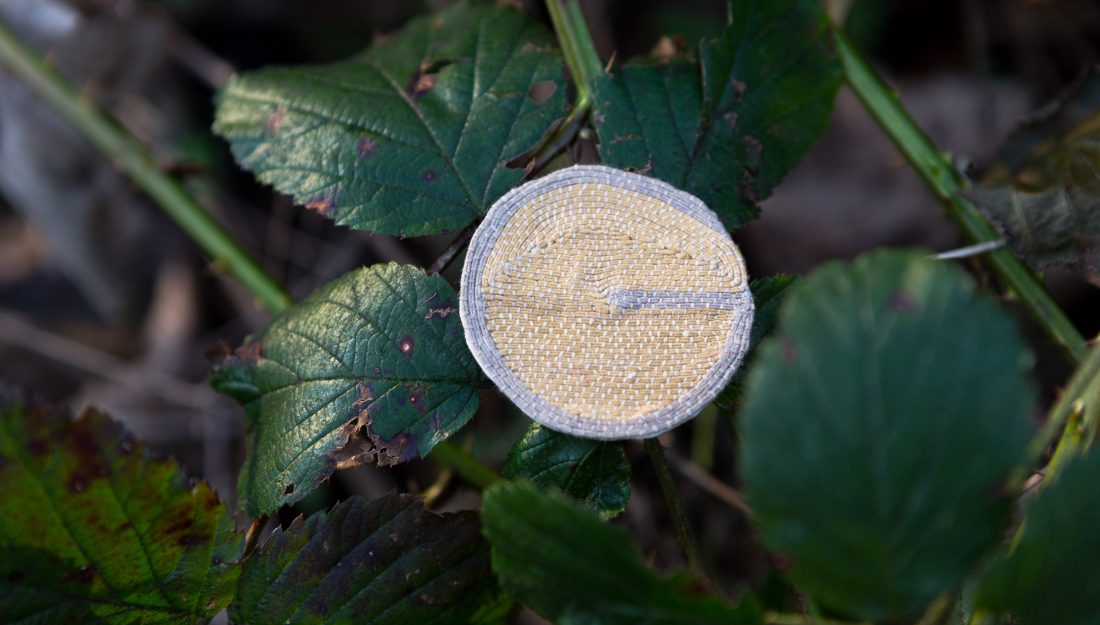
<svg viewBox="0 0 1100 625"><path fill-rule="evenodd" d="M232 597L226 505L102 414L0 397L0 493L4 623L206 623Z"/></svg>

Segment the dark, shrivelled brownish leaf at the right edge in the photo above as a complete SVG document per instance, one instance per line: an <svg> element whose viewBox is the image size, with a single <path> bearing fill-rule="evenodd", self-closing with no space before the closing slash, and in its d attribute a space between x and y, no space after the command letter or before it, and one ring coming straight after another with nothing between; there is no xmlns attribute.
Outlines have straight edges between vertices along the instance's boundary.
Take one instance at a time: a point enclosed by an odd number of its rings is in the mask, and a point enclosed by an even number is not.
<svg viewBox="0 0 1100 625"><path fill-rule="evenodd" d="M1100 286L1100 74L1014 133L968 196L1033 268Z"/></svg>

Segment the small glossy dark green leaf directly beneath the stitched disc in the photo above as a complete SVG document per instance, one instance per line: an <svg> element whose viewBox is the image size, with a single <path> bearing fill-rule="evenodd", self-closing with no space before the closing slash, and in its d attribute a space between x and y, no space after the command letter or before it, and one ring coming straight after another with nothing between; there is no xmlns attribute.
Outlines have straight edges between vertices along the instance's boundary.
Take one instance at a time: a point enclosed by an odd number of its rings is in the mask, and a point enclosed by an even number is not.
<svg viewBox="0 0 1100 625"><path fill-rule="evenodd" d="M623 512L630 498L630 463L622 446L576 438L538 424L512 448L502 473L556 486L605 518Z"/></svg>

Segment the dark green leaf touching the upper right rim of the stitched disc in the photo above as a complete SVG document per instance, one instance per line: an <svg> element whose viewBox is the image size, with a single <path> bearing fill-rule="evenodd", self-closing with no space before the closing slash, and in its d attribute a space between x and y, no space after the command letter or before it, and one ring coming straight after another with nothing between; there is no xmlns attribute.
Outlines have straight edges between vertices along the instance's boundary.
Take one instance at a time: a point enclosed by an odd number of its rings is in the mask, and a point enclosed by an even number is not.
<svg viewBox="0 0 1100 625"><path fill-rule="evenodd" d="M600 77L594 119L604 164L697 196L733 230L825 130L842 72L818 0L739 0L730 15L697 64Z"/></svg>

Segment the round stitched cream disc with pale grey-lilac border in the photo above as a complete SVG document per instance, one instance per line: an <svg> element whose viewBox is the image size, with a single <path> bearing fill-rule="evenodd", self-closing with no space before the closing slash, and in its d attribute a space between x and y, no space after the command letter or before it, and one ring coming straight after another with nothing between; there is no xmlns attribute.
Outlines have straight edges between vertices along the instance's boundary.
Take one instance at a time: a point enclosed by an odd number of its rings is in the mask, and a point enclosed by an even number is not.
<svg viewBox="0 0 1100 625"><path fill-rule="evenodd" d="M497 200L470 243L460 312L474 358L535 420L587 438L657 436L740 364L745 261L694 196L575 166Z"/></svg>

